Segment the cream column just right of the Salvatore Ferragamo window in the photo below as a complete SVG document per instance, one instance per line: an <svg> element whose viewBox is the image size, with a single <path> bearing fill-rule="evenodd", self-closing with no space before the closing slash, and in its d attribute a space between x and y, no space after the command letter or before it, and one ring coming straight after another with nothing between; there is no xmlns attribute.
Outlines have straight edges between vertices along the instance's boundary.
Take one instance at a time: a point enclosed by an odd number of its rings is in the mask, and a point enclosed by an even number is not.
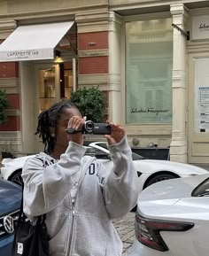
<svg viewBox="0 0 209 256"><path fill-rule="evenodd" d="M184 4L171 4L170 12L173 23L185 31L188 10ZM174 62L173 62L173 128L170 145L170 159L187 162L186 138L186 36L174 28Z"/></svg>

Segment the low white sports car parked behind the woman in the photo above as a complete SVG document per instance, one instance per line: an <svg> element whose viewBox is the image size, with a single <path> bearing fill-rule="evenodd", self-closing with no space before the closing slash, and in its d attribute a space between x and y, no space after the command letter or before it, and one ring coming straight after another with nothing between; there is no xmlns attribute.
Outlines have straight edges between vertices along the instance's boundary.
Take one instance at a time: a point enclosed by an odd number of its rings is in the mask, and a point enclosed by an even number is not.
<svg viewBox="0 0 209 256"><path fill-rule="evenodd" d="M105 142L91 143L86 146L86 154L96 157L103 162L107 168L112 168L112 160L110 158L109 150ZM3 159L1 167L1 175L4 179L16 182L21 185L21 172L25 161L34 155L20 157L17 159ZM174 179L190 175L207 174L207 170L166 160L151 160L143 159L138 154L132 153L139 178L140 190L145 189L154 182L160 182L167 179Z"/></svg>

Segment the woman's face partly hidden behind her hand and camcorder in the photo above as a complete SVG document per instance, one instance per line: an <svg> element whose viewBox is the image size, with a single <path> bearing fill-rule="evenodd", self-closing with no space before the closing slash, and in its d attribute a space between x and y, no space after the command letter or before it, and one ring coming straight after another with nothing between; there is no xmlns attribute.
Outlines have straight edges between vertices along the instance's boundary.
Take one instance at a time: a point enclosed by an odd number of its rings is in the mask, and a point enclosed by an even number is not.
<svg viewBox="0 0 209 256"><path fill-rule="evenodd" d="M64 109L64 112L61 113L59 117L58 124L57 124L56 145L55 145L55 149L58 151L63 151L63 152L66 151L66 148L68 146L66 128L67 128L68 121L73 116L81 116L81 112L75 107Z"/></svg>

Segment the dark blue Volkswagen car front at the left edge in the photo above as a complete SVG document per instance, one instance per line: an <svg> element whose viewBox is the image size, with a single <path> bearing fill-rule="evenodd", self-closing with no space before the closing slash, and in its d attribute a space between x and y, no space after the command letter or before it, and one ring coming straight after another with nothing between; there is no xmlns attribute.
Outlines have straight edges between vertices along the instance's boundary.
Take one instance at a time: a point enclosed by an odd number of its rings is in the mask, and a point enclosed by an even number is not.
<svg viewBox="0 0 209 256"><path fill-rule="evenodd" d="M0 255L11 256L14 227L19 217L21 188L0 179Z"/></svg>

